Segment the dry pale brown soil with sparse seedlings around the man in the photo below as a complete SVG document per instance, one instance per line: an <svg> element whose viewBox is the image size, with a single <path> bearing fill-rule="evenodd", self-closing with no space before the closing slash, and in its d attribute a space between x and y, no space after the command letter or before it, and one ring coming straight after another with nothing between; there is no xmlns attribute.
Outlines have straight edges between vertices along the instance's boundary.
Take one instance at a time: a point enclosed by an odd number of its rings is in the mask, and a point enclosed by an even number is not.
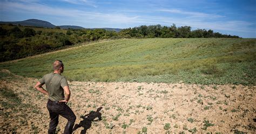
<svg viewBox="0 0 256 134"><path fill-rule="evenodd" d="M0 80L1 93L13 90L18 99L1 94L0 133L46 133L50 120L48 98L33 88L37 79L7 73ZM68 104L77 116L76 124L80 124L74 133L256 132L255 86L76 81L69 84ZM66 119L60 117L57 132L63 132L65 124Z"/></svg>

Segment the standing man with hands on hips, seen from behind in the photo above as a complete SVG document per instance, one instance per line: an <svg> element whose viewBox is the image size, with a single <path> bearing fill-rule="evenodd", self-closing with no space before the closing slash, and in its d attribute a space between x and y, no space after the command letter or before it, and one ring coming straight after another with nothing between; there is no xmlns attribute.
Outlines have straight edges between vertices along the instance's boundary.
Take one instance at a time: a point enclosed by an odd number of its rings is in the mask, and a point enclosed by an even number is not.
<svg viewBox="0 0 256 134"><path fill-rule="evenodd" d="M49 96L47 109L49 110L51 121L48 133L56 132L59 115L68 119L64 133L72 133L76 116L70 107L66 105L69 102L70 90L68 81L64 76L60 75L64 71L63 62L60 60L53 62L53 70L53 73L44 75L35 86L38 91ZM43 84L45 84L47 90L42 87Z"/></svg>

